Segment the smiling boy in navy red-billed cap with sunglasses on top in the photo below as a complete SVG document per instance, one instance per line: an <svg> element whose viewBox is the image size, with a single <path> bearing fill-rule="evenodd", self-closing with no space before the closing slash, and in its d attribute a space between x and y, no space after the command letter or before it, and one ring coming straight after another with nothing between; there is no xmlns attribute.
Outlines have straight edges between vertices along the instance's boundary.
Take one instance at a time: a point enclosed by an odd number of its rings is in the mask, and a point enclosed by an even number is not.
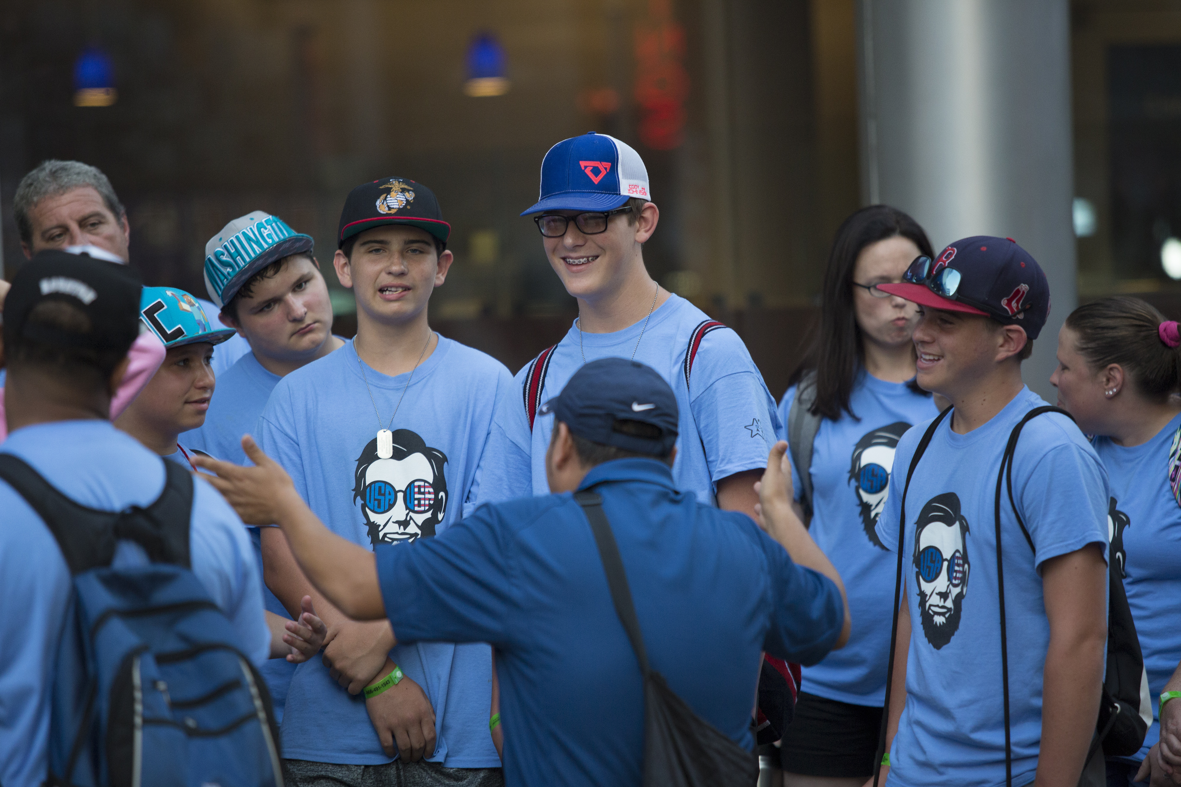
<svg viewBox="0 0 1181 787"><path fill-rule="evenodd" d="M1022 361L1050 287L1025 249L987 236L879 287L919 304L918 383L953 406L909 479L905 538L903 488L932 421L899 441L877 520L906 566L883 770L889 785L1004 785L997 473L1013 427L1045 405L1022 383ZM1025 425L999 525L1013 785L1074 787L1084 767L1107 647L1108 498L1107 471L1069 418ZM1102 754L1088 767L1102 782Z"/></svg>

